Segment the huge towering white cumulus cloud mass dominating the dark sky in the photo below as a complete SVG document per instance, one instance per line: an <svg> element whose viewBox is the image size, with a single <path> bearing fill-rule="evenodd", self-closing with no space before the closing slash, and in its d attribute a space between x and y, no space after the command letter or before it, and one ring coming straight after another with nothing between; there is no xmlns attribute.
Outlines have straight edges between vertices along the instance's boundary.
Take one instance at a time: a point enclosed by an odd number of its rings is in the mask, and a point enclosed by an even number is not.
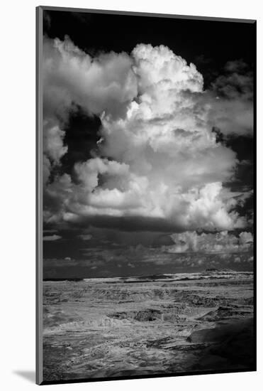
<svg viewBox="0 0 263 391"><path fill-rule="evenodd" d="M74 178L63 173L47 183L47 223L109 215L166 219L182 230L245 227L234 211L239 198L223 187L235 176L237 158L211 125L211 118L226 121L220 110L228 112L228 101L250 122L242 107L249 99L244 77L234 77L228 97L228 78L217 80L213 92L203 91L195 65L164 45L91 58L69 38L46 39L44 58L45 178L67 153L55 118L67 121L69 109L79 105L100 115L102 124L96 156L76 162ZM244 100L233 92L238 83ZM236 117L232 131L242 132L245 119Z"/></svg>

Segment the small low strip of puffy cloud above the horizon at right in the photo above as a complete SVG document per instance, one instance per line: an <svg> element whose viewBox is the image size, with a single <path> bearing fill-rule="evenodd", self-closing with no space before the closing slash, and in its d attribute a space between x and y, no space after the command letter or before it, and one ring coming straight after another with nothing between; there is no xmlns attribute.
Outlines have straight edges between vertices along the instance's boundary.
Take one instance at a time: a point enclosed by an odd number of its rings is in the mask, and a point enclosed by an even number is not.
<svg viewBox="0 0 263 391"><path fill-rule="evenodd" d="M239 237L221 231L217 233L202 233L186 231L171 235L174 245L163 246L163 250L172 253L181 252L247 252L252 250L253 235L251 232L241 232Z"/></svg>

